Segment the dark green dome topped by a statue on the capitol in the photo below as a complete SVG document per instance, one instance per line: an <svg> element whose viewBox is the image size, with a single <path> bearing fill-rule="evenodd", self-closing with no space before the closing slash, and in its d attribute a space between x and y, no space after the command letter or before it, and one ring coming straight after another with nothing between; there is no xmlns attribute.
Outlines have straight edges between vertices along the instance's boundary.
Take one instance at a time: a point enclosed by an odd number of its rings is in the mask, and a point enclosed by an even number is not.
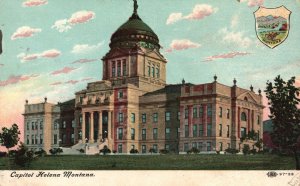
<svg viewBox="0 0 300 186"><path fill-rule="evenodd" d="M132 48L137 44L146 48L159 49L159 39L154 31L137 14L137 5L127 22L111 36L110 48Z"/></svg>

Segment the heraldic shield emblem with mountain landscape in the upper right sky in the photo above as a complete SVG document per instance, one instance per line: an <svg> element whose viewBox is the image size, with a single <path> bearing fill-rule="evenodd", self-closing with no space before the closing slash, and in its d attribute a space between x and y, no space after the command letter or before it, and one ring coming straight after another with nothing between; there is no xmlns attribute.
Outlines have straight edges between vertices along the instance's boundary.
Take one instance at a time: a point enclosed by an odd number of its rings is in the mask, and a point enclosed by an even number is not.
<svg viewBox="0 0 300 186"><path fill-rule="evenodd" d="M270 48L280 45L289 34L290 14L291 11L284 6L259 7L254 12L258 39Z"/></svg>

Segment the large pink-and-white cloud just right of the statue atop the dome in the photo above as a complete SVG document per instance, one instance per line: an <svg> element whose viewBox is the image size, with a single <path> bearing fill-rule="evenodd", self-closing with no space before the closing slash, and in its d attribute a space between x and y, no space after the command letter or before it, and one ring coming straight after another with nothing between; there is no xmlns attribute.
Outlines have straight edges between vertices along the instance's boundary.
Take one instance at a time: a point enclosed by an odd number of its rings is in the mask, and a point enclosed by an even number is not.
<svg viewBox="0 0 300 186"><path fill-rule="evenodd" d="M171 13L167 19L166 24L167 25L174 24L175 22L182 19L188 19L188 20L204 19L205 17L215 13L217 10L218 10L217 8L213 8L211 5L208 4L197 4L194 6L193 11L186 16L183 16L181 12Z"/></svg>

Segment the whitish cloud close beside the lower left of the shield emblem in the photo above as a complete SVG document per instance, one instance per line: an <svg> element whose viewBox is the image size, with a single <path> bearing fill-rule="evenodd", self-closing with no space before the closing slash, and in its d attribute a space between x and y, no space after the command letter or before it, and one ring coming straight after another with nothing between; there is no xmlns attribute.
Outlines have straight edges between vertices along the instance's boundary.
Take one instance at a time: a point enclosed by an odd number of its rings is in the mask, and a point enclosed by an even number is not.
<svg viewBox="0 0 300 186"><path fill-rule="evenodd" d="M225 43L234 44L244 48L247 48L252 44L251 39L244 36L242 32L229 31L227 28L223 28L219 33L223 36L222 41Z"/></svg>

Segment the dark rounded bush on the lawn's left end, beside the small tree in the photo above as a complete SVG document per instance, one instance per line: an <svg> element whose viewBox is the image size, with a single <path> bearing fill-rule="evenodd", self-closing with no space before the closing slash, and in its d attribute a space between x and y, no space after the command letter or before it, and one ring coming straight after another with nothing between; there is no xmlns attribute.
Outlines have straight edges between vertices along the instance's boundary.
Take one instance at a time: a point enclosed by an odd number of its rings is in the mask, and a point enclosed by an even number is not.
<svg viewBox="0 0 300 186"><path fill-rule="evenodd" d="M21 167L28 167L33 160L33 151L28 151L26 146L21 143L19 149L16 151L14 162Z"/></svg>

